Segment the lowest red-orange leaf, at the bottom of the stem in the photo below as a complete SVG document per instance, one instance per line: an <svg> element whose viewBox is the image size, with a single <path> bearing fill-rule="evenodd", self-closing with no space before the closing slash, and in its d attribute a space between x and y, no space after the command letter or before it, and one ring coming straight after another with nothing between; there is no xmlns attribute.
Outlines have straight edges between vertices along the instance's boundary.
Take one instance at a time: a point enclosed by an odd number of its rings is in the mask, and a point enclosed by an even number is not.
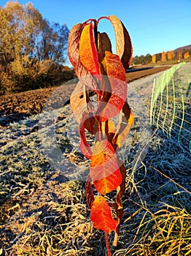
<svg viewBox="0 0 191 256"><path fill-rule="evenodd" d="M106 233L111 233L117 225L117 221L112 217L111 208L102 196L95 198L91 208L90 219L95 228Z"/></svg>

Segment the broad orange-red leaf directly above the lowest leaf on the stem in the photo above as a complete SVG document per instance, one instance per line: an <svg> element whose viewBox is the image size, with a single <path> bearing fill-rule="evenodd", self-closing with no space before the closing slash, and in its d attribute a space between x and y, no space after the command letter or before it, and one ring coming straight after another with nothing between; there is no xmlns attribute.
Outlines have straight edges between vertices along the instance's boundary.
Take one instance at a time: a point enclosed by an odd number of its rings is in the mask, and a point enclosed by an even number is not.
<svg viewBox="0 0 191 256"><path fill-rule="evenodd" d="M95 189L102 195L116 189L122 182L117 156L108 140L101 140L93 147L90 178Z"/></svg>

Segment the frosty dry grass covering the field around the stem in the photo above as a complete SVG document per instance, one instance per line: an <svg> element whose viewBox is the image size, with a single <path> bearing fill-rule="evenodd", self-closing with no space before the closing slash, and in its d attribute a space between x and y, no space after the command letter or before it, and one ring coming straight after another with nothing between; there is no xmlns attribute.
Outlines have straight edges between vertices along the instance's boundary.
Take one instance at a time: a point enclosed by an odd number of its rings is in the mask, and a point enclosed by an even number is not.
<svg viewBox="0 0 191 256"><path fill-rule="evenodd" d="M187 67L175 74L179 84L190 76ZM109 235L112 255L190 255L190 152L146 125L152 87L141 79L129 89L135 123L120 153L128 176L117 247ZM90 222L85 181L72 176L74 168L88 170L89 162L77 151L69 105L53 116L49 126L47 114L39 113L0 131L0 255L106 255L104 233ZM44 141L51 125L61 154L56 166L44 154L55 146Z"/></svg>

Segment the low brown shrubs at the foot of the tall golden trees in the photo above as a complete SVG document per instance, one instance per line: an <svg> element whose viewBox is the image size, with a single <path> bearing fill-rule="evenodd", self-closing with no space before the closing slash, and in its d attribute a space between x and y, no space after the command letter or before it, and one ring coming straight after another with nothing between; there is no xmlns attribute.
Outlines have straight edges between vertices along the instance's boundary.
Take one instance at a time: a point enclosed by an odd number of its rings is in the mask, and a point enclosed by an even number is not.
<svg viewBox="0 0 191 256"><path fill-rule="evenodd" d="M0 94L59 86L72 78L73 69L50 60L26 61L25 65L15 60L9 64L9 72L0 65Z"/></svg>

